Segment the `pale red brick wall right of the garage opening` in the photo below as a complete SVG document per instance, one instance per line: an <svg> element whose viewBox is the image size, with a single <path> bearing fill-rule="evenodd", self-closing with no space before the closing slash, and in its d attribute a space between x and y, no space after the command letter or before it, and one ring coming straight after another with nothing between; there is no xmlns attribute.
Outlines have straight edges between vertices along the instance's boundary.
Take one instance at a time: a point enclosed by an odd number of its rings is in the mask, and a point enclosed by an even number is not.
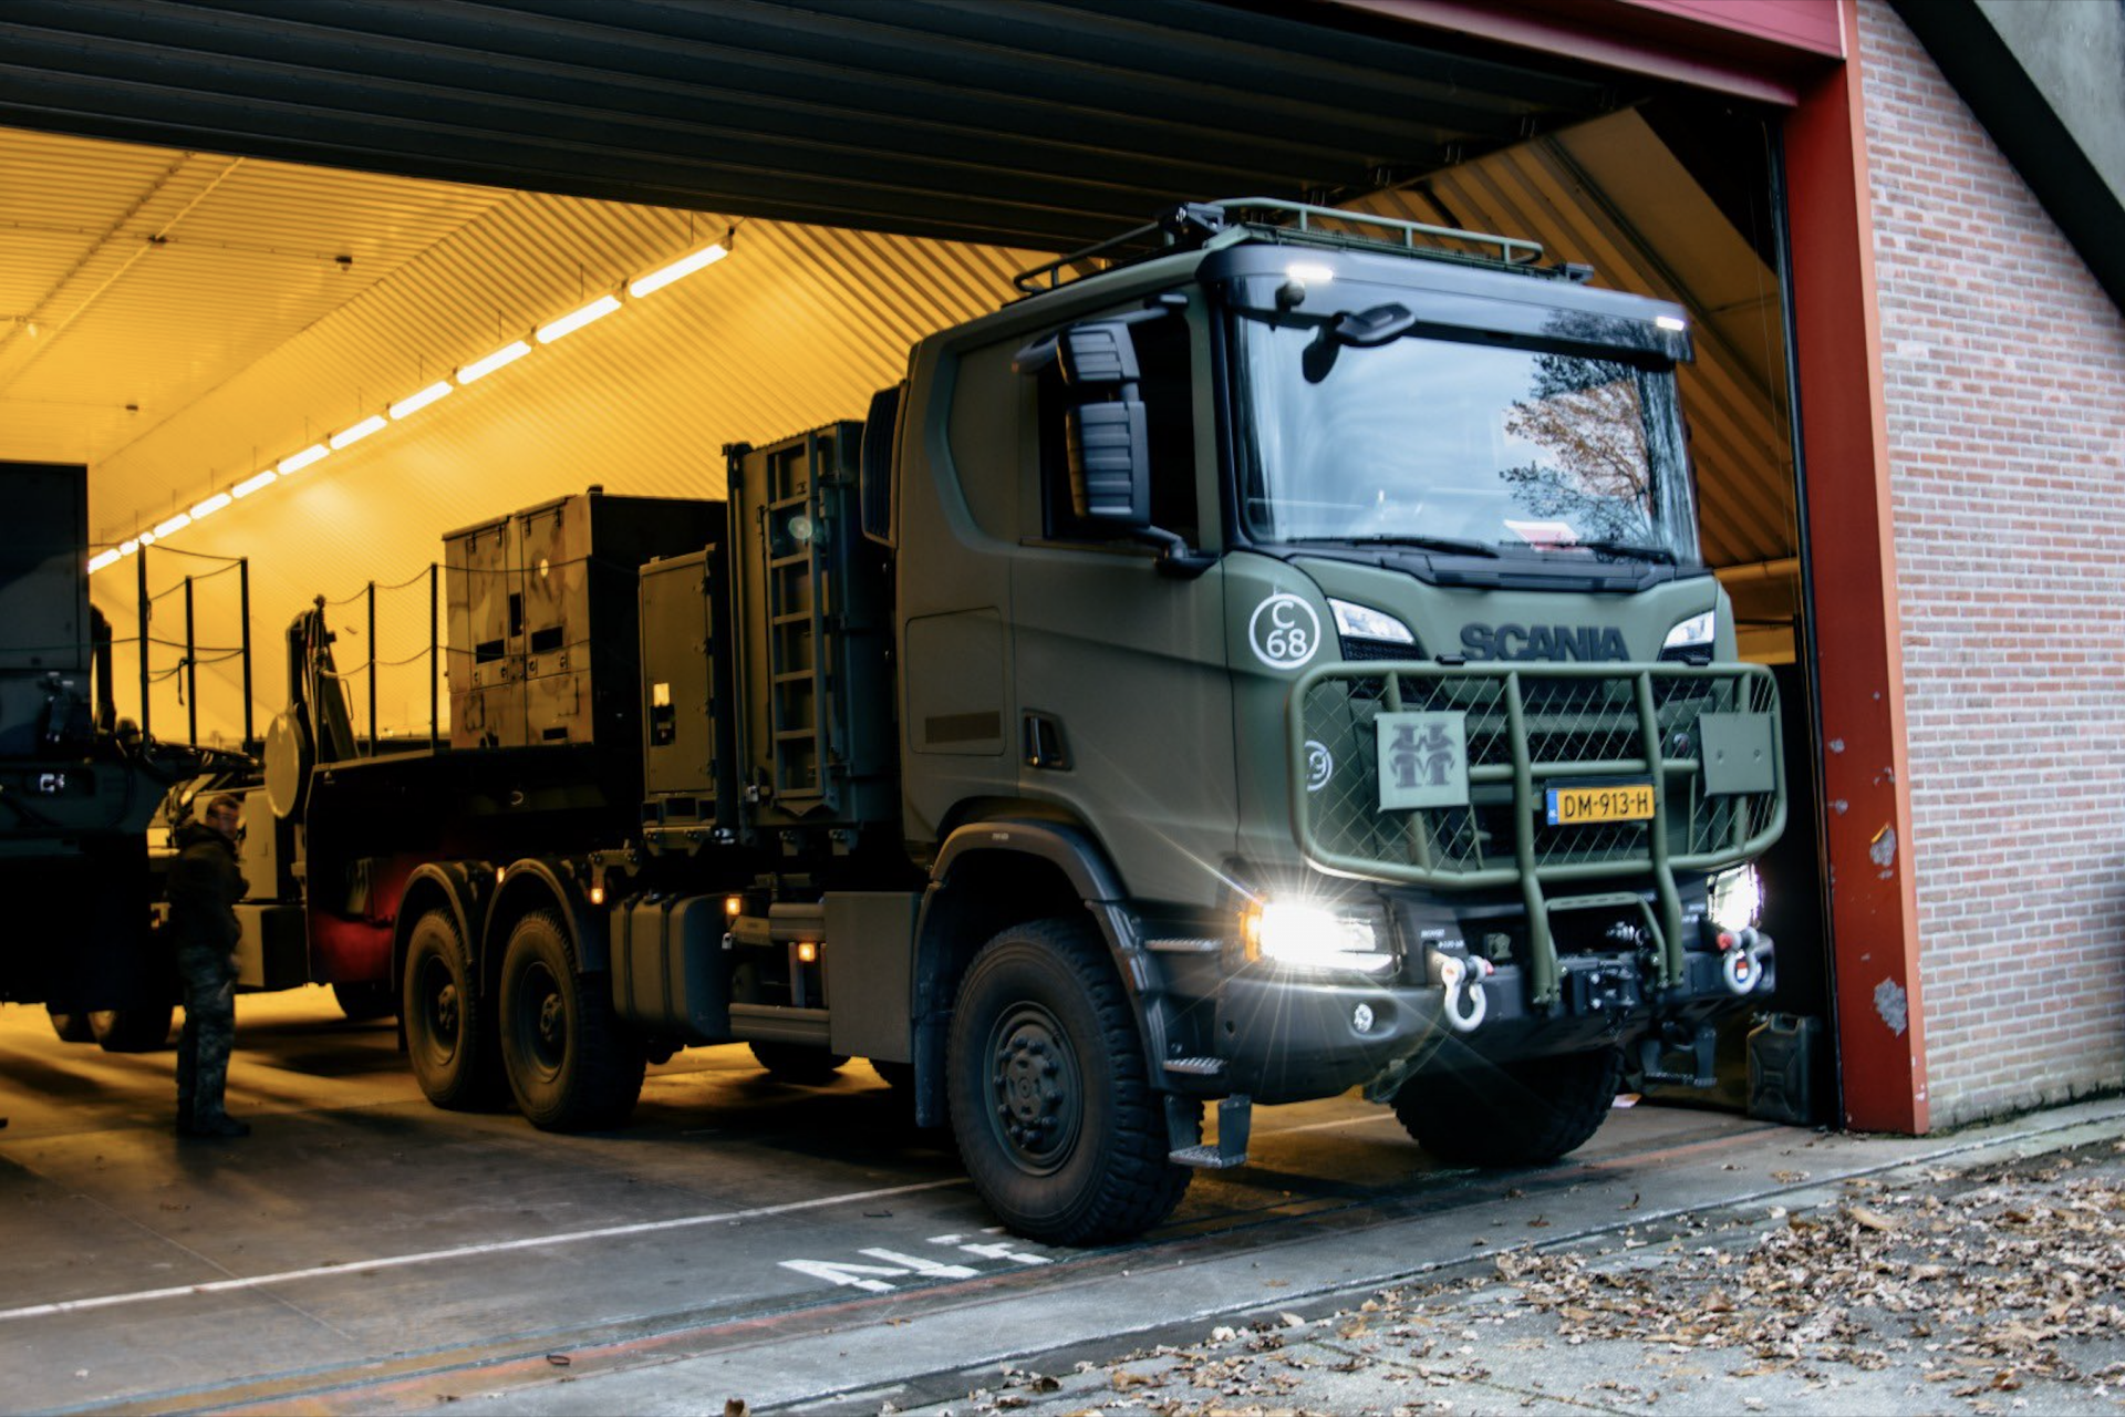
<svg viewBox="0 0 2125 1417"><path fill-rule="evenodd" d="M2125 321L1885 0L1859 36L1949 1126L2125 1079Z"/></svg>

